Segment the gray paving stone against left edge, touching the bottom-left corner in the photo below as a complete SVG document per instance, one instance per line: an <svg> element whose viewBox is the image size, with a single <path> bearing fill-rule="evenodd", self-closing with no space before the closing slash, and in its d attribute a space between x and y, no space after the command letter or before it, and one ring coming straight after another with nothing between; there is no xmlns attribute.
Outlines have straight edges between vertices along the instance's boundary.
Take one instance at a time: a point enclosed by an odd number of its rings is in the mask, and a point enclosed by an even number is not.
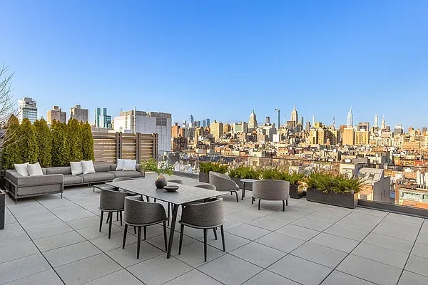
<svg viewBox="0 0 428 285"><path fill-rule="evenodd" d="M0 264L0 284L5 284L48 269L51 269L51 266L49 266L41 254L7 261Z"/></svg>

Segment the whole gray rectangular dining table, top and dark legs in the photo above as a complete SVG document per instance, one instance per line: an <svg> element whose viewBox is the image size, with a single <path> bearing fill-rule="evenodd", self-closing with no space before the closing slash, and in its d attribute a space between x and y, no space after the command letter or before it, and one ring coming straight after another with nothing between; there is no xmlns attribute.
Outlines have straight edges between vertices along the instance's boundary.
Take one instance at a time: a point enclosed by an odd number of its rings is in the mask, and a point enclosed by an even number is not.
<svg viewBox="0 0 428 285"><path fill-rule="evenodd" d="M170 234L168 242L168 252L166 258L170 258L171 249L173 247L173 239L175 232L175 222L177 220L178 207L190 202L203 201L213 197L226 195L225 192L208 190L205 188L181 185L173 182L168 182L168 185L178 185L179 188L175 192L167 192L163 188L157 188L155 185L156 177L138 178L134 180L125 180L118 182L107 182L107 185L117 187L127 192L139 194L146 197L161 200L173 204L173 213L170 222Z"/></svg>

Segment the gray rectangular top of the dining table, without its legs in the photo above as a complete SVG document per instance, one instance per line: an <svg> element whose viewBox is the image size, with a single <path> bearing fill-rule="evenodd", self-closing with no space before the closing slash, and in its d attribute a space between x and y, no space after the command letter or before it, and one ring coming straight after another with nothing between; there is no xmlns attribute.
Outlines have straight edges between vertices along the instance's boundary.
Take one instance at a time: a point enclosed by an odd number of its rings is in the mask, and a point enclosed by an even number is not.
<svg viewBox="0 0 428 285"><path fill-rule="evenodd" d="M106 184L121 188L128 192L133 192L143 196L160 199L161 201L170 202L173 204L185 204L228 194L227 192L208 190L200 187L181 185L173 182L168 182L168 185L178 185L180 186L180 188L178 188L178 190L175 192L167 192L164 189L156 188L155 179L150 177L146 177L144 179L140 178L118 182L107 182Z"/></svg>

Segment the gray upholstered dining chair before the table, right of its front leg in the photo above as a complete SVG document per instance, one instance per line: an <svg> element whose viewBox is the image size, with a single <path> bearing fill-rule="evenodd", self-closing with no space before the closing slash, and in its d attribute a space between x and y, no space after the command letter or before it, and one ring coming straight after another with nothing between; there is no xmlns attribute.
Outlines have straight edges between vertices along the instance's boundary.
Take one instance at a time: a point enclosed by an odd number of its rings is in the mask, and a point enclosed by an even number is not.
<svg viewBox="0 0 428 285"><path fill-rule="evenodd" d="M183 244L184 226L203 229L203 255L205 262L207 261L207 233L208 229L213 229L215 239L217 232L215 229L220 227L221 239L223 242L223 252L225 252L225 234L223 224L225 223L223 211L223 199L217 198L210 202L200 202L194 204L186 204L181 212L180 219L180 246L178 247L178 255L181 254L181 245Z"/></svg>

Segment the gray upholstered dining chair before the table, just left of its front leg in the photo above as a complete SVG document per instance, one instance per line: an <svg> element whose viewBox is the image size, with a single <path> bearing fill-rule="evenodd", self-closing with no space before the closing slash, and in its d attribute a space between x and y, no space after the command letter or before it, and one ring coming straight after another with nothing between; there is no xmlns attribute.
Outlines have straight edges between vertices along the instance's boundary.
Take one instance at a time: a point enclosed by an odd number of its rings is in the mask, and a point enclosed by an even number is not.
<svg viewBox="0 0 428 285"><path fill-rule="evenodd" d="M153 224L163 223L163 239L165 241L165 252L167 251L166 244L166 217L165 208L162 204L153 202L144 202L141 197L130 196L125 199L125 229L123 229L123 244L125 248L126 233L128 225L138 227L138 242L137 242L137 259L140 258L141 244L141 227L144 227L144 239L146 239L146 227Z"/></svg>

